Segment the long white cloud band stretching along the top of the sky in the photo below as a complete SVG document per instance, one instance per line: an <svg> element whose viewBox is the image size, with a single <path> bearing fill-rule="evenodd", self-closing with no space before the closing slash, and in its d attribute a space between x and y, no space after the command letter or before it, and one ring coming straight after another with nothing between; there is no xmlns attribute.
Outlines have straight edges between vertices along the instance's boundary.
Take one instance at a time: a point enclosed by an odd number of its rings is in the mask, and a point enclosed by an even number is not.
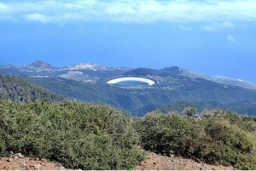
<svg viewBox="0 0 256 171"><path fill-rule="evenodd" d="M11 15L10 17L16 20L44 23L95 20L125 23L165 21L185 25L195 22L215 22L223 23L223 28L232 28L236 21L256 20L256 1L13 0L0 3L0 15L0 19ZM202 29L211 31L214 30L213 27L204 26Z"/></svg>

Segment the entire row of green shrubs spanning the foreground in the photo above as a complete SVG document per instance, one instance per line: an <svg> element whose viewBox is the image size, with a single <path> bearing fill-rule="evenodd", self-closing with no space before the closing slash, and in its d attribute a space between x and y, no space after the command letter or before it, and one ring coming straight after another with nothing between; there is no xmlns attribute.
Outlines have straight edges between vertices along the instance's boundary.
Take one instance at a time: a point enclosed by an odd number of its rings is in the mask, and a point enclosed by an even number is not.
<svg viewBox="0 0 256 171"><path fill-rule="evenodd" d="M201 117L127 117L108 105L0 100L0 156L10 151L67 168L133 168L139 150L256 169L256 117L206 111Z"/></svg>

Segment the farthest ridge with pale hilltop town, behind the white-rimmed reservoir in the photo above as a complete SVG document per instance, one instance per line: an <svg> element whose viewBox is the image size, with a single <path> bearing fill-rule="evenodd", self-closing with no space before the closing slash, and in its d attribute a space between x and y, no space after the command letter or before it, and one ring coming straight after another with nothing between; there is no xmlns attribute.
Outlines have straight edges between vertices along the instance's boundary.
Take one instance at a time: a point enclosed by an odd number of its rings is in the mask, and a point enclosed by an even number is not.
<svg viewBox="0 0 256 171"><path fill-rule="evenodd" d="M35 71L38 71L36 73ZM243 81L241 79L232 79L229 77L215 77L215 76L207 76L201 73L196 73L194 71L184 70L178 66L170 66L165 67L160 70L155 70L151 68L129 68L124 66L104 66L99 64L92 64L92 63L79 63L72 66L64 66L64 67L55 67L50 65L47 62L42 60L36 60L29 65L26 66L15 66L15 65L0 65L0 73L5 75L26 75L32 77L62 77L67 79L73 79L76 76L68 76L68 71L72 73L72 71L98 71L98 72L117 72L112 73L114 77L121 77L122 75L129 76L160 76L160 77L167 77L167 76L184 76L190 78L203 78L214 83L220 83L227 86L238 86L241 88L248 88L248 89L256 89L256 83L250 81ZM66 73L67 72L67 73ZM36 73L36 74L35 74ZM75 72L73 72L74 74ZM34 75L33 75L34 74ZM41 75L40 75L41 74ZM77 72L79 74L79 72ZM86 74L86 73L85 73ZM80 77L80 76L79 76ZM74 78L77 81L81 81L79 79ZM88 79L90 82L90 79Z"/></svg>

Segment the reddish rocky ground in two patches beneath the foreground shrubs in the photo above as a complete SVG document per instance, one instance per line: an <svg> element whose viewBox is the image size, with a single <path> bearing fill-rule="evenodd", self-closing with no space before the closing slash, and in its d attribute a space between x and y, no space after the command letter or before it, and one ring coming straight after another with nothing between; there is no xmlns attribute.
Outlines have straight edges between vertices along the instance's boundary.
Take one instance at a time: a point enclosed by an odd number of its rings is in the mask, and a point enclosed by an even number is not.
<svg viewBox="0 0 256 171"><path fill-rule="evenodd" d="M0 157L1 170L65 170L59 163L38 158L24 157L20 153L10 157ZM164 157L150 153L148 158L131 170L233 170L233 167L195 162L182 157Z"/></svg>

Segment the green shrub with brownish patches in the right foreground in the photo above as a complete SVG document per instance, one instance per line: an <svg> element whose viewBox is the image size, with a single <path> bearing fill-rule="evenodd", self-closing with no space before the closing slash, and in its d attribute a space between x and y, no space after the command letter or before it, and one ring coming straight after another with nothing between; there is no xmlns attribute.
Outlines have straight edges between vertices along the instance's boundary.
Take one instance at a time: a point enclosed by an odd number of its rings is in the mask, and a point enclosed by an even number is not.
<svg viewBox="0 0 256 171"><path fill-rule="evenodd" d="M199 158L209 163L256 168L256 119L227 111L200 118L154 111L139 119L137 131L147 151Z"/></svg>

